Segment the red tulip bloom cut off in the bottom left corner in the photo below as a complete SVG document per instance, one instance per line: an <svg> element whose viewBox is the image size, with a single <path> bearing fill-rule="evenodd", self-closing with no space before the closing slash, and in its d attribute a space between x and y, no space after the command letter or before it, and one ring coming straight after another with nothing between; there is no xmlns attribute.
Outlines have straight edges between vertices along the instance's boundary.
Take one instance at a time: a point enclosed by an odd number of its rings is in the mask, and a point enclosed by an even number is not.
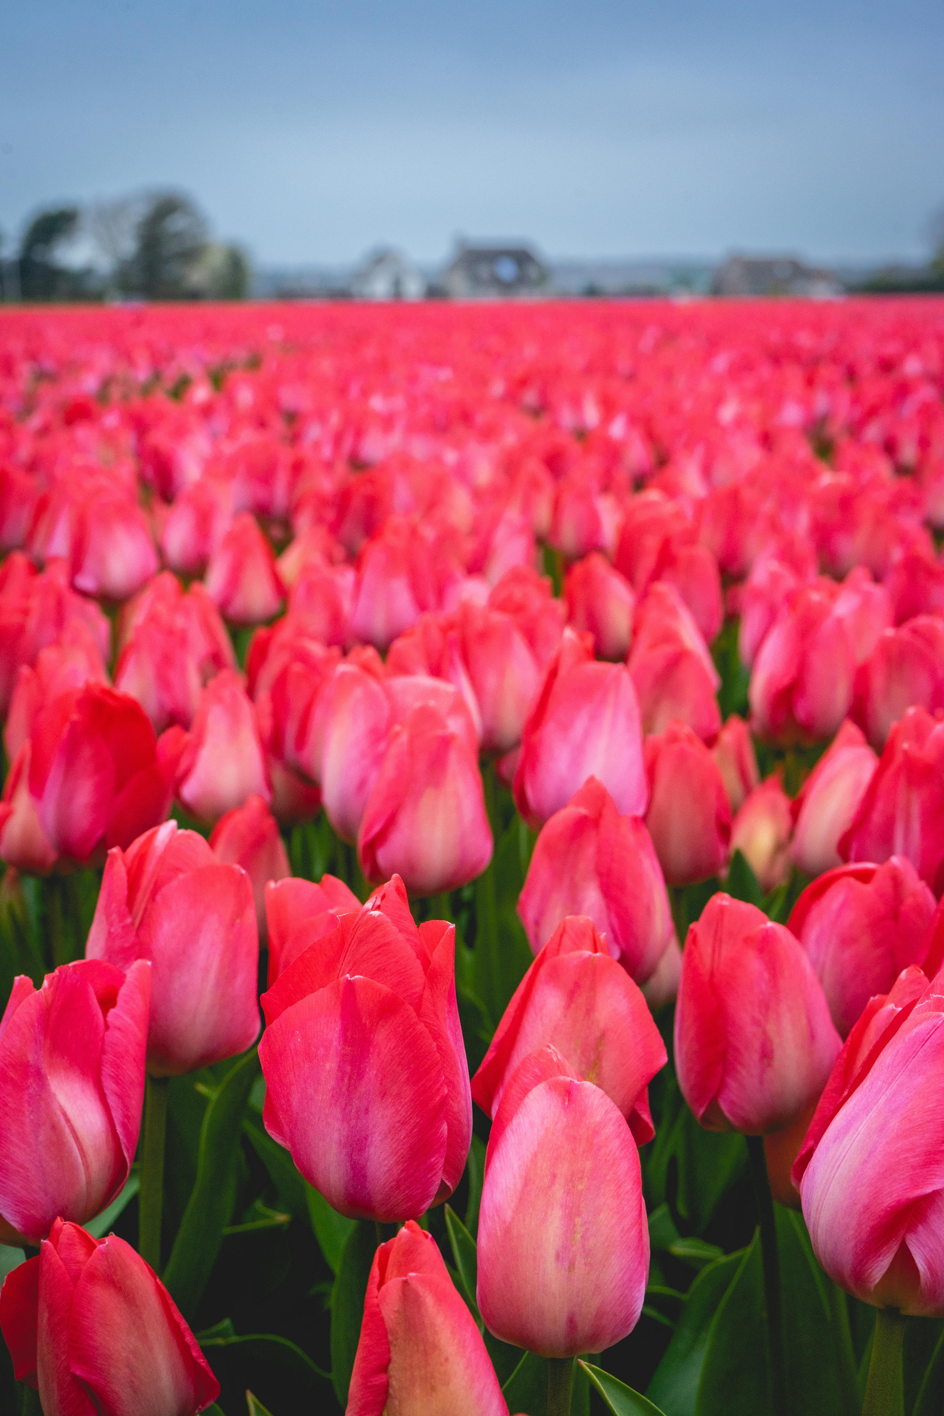
<svg viewBox="0 0 944 1416"><path fill-rule="evenodd" d="M7 1274L0 1328L45 1416L195 1416L219 1396L167 1289L116 1235L57 1219L40 1257Z"/></svg>

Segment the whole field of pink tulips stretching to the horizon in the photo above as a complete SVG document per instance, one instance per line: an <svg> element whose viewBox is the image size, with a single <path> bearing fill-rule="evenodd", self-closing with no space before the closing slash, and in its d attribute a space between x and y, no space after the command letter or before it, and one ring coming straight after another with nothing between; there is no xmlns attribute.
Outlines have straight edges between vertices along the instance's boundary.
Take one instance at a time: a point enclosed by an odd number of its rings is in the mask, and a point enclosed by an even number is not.
<svg viewBox="0 0 944 1416"><path fill-rule="evenodd" d="M1 1416L941 1416L943 539L944 300L0 313Z"/></svg>

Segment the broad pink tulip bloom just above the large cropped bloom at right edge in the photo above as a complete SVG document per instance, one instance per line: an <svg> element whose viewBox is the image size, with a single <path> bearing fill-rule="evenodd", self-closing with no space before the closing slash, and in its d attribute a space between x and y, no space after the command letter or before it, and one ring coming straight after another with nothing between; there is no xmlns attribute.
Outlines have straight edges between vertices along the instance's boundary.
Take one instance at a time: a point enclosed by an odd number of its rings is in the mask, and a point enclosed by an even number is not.
<svg viewBox="0 0 944 1416"><path fill-rule="evenodd" d="M845 1038L869 998L923 964L934 895L910 861L842 865L802 892L787 927L802 943Z"/></svg>

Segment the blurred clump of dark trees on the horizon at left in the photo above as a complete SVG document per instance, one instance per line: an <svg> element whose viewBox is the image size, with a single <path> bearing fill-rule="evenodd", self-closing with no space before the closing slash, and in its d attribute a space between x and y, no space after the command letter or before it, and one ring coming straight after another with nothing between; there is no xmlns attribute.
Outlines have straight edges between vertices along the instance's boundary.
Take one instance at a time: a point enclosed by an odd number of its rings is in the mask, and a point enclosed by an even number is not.
<svg viewBox="0 0 944 1416"><path fill-rule="evenodd" d="M24 302L241 300L249 276L245 252L212 241L180 191L40 211L18 252L0 259L3 299Z"/></svg>

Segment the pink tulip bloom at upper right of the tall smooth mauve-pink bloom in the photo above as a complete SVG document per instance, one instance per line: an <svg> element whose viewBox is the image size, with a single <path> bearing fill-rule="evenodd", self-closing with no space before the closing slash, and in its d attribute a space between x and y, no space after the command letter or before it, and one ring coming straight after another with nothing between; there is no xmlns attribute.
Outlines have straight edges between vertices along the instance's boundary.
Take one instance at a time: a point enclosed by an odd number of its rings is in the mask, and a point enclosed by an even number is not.
<svg viewBox="0 0 944 1416"><path fill-rule="evenodd" d="M640 603L627 663L644 733L662 732L674 719L705 742L716 736L720 678L698 624L671 585L655 582Z"/></svg>

